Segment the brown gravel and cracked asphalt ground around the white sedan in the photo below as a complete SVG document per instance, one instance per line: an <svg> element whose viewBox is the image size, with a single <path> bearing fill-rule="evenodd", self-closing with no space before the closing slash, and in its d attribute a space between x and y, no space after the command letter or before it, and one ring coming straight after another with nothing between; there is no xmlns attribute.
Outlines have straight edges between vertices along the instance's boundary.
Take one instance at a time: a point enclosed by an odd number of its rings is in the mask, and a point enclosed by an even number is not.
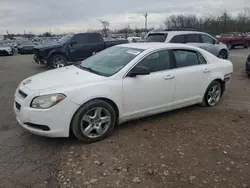
<svg viewBox="0 0 250 188"><path fill-rule="evenodd" d="M47 69L30 55L0 57L0 187L249 187L249 53L231 51L234 74L218 106L132 121L88 145L23 130L12 110L15 88Z"/></svg>

